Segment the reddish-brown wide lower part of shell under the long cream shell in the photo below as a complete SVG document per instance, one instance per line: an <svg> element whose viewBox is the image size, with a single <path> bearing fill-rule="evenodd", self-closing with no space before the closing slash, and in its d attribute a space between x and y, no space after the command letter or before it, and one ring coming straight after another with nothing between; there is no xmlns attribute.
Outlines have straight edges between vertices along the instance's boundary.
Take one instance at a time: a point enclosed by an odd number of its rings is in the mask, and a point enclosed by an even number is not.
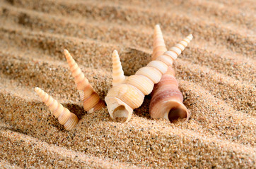
<svg viewBox="0 0 256 169"><path fill-rule="evenodd" d="M178 89L173 68L169 67L160 82L155 84L151 96L149 105L151 118L165 118L173 122L178 118L188 120L190 117L189 111L182 104L183 96Z"/></svg>

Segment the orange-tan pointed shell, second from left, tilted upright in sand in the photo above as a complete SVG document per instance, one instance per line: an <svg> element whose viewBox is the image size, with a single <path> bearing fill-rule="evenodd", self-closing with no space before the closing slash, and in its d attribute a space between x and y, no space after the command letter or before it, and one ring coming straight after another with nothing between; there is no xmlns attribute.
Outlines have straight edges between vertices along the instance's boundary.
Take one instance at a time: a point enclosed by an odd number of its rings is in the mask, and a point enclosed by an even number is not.
<svg viewBox="0 0 256 169"><path fill-rule="evenodd" d="M76 87L80 94L80 99L83 101L83 109L85 111L98 111L105 106L105 103L100 100L98 94L94 91L87 78L81 72L74 58L69 54L69 51L64 50L66 61L69 63L72 76L75 79Z"/></svg>

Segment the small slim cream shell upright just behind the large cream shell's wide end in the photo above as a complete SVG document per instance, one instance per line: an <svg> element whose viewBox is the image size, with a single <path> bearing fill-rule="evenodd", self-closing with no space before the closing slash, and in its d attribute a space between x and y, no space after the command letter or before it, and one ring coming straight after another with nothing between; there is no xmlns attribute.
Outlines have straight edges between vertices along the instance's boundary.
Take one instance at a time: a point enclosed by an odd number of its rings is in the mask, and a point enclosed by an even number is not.
<svg viewBox="0 0 256 169"><path fill-rule="evenodd" d="M119 55L116 50L113 51L112 54L112 86L116 86L117 84L120 84L124 81L124 71L122 70L122 65L120 62Z"/></svg>

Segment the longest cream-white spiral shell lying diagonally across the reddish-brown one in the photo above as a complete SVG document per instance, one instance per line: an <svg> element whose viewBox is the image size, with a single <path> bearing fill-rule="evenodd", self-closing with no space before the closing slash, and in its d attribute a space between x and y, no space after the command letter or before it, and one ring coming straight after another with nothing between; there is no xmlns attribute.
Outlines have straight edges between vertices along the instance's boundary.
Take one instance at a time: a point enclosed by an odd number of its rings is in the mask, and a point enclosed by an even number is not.
<svg viewBox="0 0 256 169"><path fill-rule="evenodd" d="M187 44L190 42L189 39L192 39L192 35L183 41ZM140 68L135 75L127 77L122 84L110 89L105 97L105 102L111 118L124 118L126 122L132 118L134 108L141 106L144 96L152 92L153 84L161 80L168 66L173 64L173 61L187 46L185 45L182 49L177 47L185 44L183 41L176 44L170 51L158 56L156 61L151 61L146 67Z"/></svg>

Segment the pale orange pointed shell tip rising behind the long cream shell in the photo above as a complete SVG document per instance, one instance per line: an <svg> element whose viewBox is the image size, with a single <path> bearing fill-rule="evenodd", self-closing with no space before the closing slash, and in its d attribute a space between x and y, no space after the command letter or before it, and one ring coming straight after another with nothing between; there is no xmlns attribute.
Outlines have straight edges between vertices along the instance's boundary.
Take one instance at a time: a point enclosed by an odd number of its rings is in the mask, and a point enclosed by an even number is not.
<svg viewBox="0 0 256 169"><path fill-rule="evenodd" d="M153 32L153 53L152 61L155 60L158 56L161 56L167 51L165 46L165 41L163 39L163 34L159 25L155 26Z"/></svg>

